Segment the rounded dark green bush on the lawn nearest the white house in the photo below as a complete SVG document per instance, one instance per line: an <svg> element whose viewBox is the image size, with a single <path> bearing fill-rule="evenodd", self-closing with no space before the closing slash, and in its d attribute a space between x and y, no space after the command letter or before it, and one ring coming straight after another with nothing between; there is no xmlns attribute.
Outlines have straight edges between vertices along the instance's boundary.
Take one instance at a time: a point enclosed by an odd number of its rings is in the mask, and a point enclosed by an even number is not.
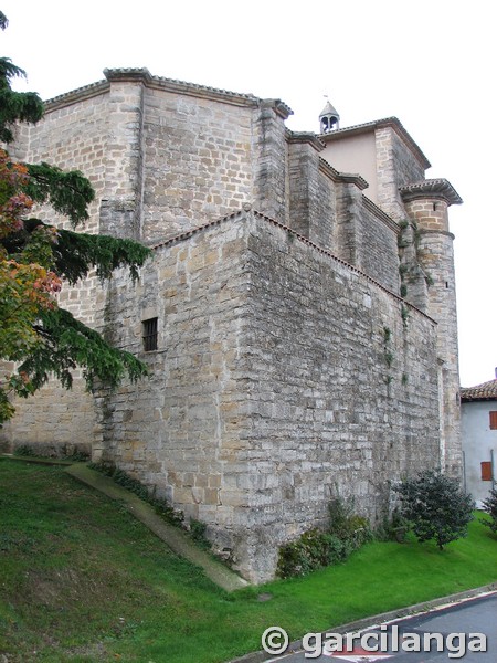
<svg viewBox="0 0 497 663"><path fill-rule="evenodd" d="M433 539L442 550L450 541L467 535L475 504L457 478L426 470L415 478L405 478L396 492L401 515L420 543Z"/></svg>

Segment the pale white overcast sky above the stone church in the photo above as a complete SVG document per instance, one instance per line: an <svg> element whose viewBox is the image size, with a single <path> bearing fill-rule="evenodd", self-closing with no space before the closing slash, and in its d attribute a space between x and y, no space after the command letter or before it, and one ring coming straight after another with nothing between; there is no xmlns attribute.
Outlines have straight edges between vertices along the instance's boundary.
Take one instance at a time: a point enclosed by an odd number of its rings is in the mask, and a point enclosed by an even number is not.
<svg viewBox="0 0 497 663"><path fill-rule="evenodd" d="M398 117L464 200L456 235L461 380L495 377L497 140L491 0L0 0L6 55L51 98L147 67L169 78L282 98L287 126L319 131L325 95L347 127ZM367 191L366 191L367 194Z"/></svg>

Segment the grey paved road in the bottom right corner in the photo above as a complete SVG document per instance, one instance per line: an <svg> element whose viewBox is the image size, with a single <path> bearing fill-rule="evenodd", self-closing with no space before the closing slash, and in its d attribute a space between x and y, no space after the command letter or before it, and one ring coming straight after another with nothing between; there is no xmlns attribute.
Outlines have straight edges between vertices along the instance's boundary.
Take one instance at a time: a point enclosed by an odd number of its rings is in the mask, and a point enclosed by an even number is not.
<svg viewBox="0 0 497 663"><path fill-rule="evenodd" d="M395 620L388 624L376 624L361 632L370 634L366 639L366 648L377 643L382 651L370 652L361 648L359 638L353 640L353 651L335 651L322 653L318 657L306 657L305 652L288 654L277 659L268 656L272 662L305 663L444 663L462 661L463 663L497 663L497 592L468 599L446 608L440 608L411 618ZM425 633L440 633L440 642L444 651L436 651L436 638L432 638L432 648L424 645ZM458 633L461 635L451 635ZM470 643L482 649L482 638L470 634L480 633L486 636L487 651L468 651ZM324 639L324 642L326 638ZM314 645L314 640L309 641ZM417 649L423 651L405 651ZM347 645L345 645L346 649ZM396 649L396 651L395 651ZM425 651L426 650L426 651ZM322 651L319 646L316 651ZM452 655L451 655L452 654Z"/></svg>

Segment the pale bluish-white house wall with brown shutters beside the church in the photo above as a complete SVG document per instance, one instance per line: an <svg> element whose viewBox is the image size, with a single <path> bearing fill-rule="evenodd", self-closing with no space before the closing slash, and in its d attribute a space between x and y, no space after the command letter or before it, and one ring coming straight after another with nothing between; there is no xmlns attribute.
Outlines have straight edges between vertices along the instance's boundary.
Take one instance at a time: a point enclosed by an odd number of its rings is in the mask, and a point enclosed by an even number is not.
<svg viewBox="0 0 497 663"><path fill-rule="evenodd" d="M480 504L489 496L497 481L494 464L494 484L482 481L482 463L497 463L497 430L490 430L489 412L497 411L496 401L469 401L461 407L461 434L464 452L464 478L466 490Z"/></svg>

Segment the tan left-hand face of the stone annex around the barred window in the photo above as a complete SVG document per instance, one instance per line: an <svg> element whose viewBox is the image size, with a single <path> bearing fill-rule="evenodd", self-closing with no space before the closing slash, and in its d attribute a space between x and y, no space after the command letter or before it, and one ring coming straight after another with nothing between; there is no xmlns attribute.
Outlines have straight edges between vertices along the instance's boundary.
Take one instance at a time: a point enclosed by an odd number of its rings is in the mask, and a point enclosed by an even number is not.
<svg viewBox="0 0 497 663"><path fill-rule="evenodd" d="M99 399L99 455L166 495L188 518L214 527L220 547L230 544L224 532L242 499L225 474L246 445L248 427L245 378L237 369L245 244L235 215L158 248L136 287L117 275L108 328L117 345L149 365L150 378ZM158 318L158 349L144 352L141 320L151 316Z"/></svg>

